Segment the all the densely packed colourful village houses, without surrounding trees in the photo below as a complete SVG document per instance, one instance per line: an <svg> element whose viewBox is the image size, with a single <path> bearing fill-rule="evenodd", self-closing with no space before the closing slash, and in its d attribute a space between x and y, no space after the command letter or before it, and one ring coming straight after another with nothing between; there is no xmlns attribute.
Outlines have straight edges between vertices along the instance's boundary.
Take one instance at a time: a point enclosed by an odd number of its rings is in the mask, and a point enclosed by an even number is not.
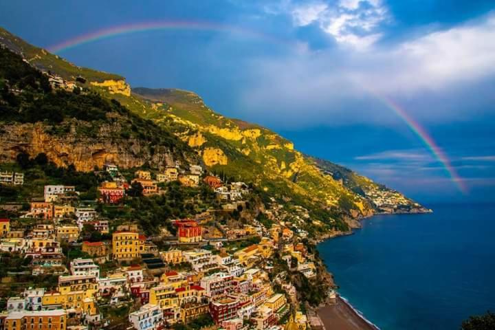
<svg viewBox="0 0 495 330"><path fill-rule="evenodd" d="M104 204L118 205L136 183L142 195L150 196L164 193L160 182L194 187L201 180L214 190L223 212L235 212L250 192L243 182L225 184L197 165L187 172L179 166L159 173L137 170L130 182L113 164L103 170L112 178L98 187ZM2 172L0 184L22 185L23 173ZM274 221L266 228L253 220L241 228L219 225L212 231L206 223L214 214L207 210L192 219L174 219L175 235L163 230L146 236L135 223L114 226L96 208L83 205L78 195L74 186L45 186L43 199L32 199L21 215L36 219L34 225L0 219L2 258L23 258L26 267L19 272L24 274L58 276L55 288L34 285L10 296L0 313L0 330L167 329L205 316L212 322L209 329L310 326L311 317L300 309L293 283L283 272L273 274L271 258L277 253L289 269L308 279L316 276L314 255L301 243L307 232L294 230L294 224ZM267 210L269 216L276 212ZM106 239L83 239L88 225ZM158 248L157 241L165 248ZM69 255L63 253L63 244ZM84 256L71 258L71 250ZM16 274L9 275L2 283L8 285ZM122 306L129 307L128 318L111 325L104 311Z"/></svg>

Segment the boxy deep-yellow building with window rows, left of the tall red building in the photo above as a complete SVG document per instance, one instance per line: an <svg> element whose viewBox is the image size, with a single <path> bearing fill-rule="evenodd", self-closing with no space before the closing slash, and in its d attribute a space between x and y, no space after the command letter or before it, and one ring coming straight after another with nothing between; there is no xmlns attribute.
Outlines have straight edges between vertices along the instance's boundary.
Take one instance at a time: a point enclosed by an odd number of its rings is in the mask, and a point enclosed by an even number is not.
<svg viewBox="0 0 495 330"><path fill-rule="evenodd" d="M139 258L144 252L146 238L138 232L113 232L112 253L113 259L131 260Z"/></svg>

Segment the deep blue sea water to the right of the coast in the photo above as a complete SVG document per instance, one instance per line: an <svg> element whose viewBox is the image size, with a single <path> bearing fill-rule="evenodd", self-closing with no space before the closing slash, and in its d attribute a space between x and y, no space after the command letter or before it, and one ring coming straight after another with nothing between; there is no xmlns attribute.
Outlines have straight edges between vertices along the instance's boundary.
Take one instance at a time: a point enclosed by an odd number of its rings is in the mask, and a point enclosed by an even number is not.
<svg viewBox="0 0 495 330"><path fill-rule="evenodd" d="M495 205L429 207L318 245L340 294L380 329L460 329L495 311Z"/></svg>

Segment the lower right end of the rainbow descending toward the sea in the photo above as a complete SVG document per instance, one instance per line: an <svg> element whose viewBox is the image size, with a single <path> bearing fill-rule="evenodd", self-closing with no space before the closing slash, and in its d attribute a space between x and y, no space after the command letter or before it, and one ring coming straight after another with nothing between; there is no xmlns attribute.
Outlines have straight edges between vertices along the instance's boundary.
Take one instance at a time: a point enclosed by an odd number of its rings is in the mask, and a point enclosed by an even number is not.
<svg viewBox="0 0 495 330"><path fill-rule="evenodd" d="M443 168L445 168L446 172L456 184L456 186L461 190L463 193L467 193L467 186L465 185L465 182L463 179L457 174L457 171L455 168L450 164L450 160L448 159L447 155L443 153L441 148L437 145L436 142L434 142L433 137L431 137L426 129L421 127L419 122L414 120L404 109L402 109L397 103L395 103L393 100L390 98L384 97L384 96L377 96L376 93L373 93L380 101L382 101L389 109L392 109L397 115L406 122L406 124L409 126L411 131L413 131L419 139L426 145L426 147L431 151L431 153L434 155L435 158L443 165Z"/></svg>

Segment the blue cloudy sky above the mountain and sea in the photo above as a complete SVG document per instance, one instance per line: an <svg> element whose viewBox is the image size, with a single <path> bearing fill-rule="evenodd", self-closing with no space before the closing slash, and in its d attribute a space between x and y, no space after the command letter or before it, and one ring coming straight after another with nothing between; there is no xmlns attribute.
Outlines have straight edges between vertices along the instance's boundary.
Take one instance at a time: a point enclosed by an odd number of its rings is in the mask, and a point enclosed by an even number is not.
<svg viewBox="0 0 495 330"><path fill-rule="evenodd" d="M58 47L140 24L167 28ZM424 203L495 201L493 0L0 0L0 25Z"/></svg>

